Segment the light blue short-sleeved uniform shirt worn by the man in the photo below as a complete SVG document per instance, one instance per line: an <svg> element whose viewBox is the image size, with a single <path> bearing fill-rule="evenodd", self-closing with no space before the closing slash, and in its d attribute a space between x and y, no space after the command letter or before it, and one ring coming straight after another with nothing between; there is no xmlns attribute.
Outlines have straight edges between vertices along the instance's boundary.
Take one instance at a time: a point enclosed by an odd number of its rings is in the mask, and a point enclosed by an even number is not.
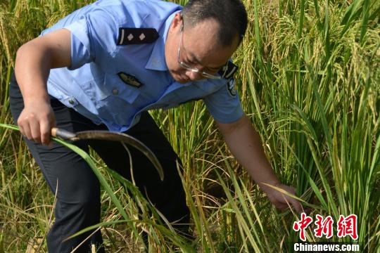
<svg viewBox="0 0 380 253"><path fill-rule="evenodd" d="M71 32L71 66L51 70L49 94L110 131L126 131L143 111L196 99L203 99L217 122L235 122L243 110L239 96L229 89L233 79L179 84L167 71L167 31L181 9L165 1L101 0L44 30L42 36L61 28ZM120 27L155 28L159 38L149 44L118 45ZM142 85L127 84L119 72Z"/></svg>

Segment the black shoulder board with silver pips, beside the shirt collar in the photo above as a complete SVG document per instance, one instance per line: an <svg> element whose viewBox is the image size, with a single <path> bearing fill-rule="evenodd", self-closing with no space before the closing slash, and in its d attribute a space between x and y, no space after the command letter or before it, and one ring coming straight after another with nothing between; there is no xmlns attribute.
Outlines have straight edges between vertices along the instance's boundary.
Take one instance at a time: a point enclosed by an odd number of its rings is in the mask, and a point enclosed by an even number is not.
<svg viewBox="0 0 380 253"><path fill-rule="evenodd" d="M156 41L160 35L154 28L119 28L118 45L148 44Z"/></svg>

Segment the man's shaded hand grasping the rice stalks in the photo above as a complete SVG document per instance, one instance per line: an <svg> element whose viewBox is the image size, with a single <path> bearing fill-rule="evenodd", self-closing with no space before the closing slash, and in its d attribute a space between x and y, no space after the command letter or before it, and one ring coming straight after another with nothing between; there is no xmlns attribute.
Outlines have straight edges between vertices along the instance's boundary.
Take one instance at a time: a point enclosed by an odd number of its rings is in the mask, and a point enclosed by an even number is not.
<svg viewBox="0 0 380 253"><path fill-rule="evenodd" d="M285 190L286 192L291 193L291 195L296 195L296 189L293 187L286 186L282 183L277 183L274 185L274 187ZM267 193L267 197L269 198L270 202L272 202L274 207L277 207L281 211L284 211L284 209L288 208L289 205L292 205L298 214L303 212L300 202L298 202L298 200L294 199L293 197L281 193L279 190L276 190L270 186L262 186L262 189L265 191L265 193Z"/></svg>

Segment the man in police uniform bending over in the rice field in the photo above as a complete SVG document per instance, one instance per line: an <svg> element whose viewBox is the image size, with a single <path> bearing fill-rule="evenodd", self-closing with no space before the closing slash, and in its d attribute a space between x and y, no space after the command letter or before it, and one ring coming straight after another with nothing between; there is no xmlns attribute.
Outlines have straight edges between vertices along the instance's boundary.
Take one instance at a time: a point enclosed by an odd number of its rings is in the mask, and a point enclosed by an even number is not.
<svg viewBox="0 0 380 253"><path fill-rule="evenodd" d="M18 50L11 82L11 110L53 193L56 221L47 237L49 252L70 252L89 234L63 242L99 222L99 181L87 163L57 143L53 126L69 131L109 129L145 143L165 170L160 181L153 165L132 149L134 179L168 221L189 223L189 209L177 174L177 154L147 110L203 99L236 159L278 208L291 197L262 151L260 137L243 114L234 91L229 58L246 31L239 0L194 0L184 9L164 1L104 0L85 6ZM16 82L17 79L17 82ZM120 143L79 141L130 179ZM56 192L57 187L57 192ZM186 231L188 226L177 226ZM100 232L87 240L101 244Z"/></svg>

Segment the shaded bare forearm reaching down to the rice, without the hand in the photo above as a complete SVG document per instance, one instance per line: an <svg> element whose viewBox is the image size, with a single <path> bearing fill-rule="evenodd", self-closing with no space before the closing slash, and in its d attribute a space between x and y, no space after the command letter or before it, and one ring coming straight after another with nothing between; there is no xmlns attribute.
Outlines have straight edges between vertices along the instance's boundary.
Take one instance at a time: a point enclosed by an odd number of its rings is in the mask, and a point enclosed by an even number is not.
<svg viewBox="0 0 380 253"><path fill-rule="evenodd" d="M268 188L262 183L270 185L280 183L265 156L260 136L253 129L248 117L242 117L233 127L223 127L221 126L222 124L218 125L224 136L224 140L229 146L229 150L231 150L239 163L247 169L248 173L260 185L262 190L267 190Z"/></svg>

